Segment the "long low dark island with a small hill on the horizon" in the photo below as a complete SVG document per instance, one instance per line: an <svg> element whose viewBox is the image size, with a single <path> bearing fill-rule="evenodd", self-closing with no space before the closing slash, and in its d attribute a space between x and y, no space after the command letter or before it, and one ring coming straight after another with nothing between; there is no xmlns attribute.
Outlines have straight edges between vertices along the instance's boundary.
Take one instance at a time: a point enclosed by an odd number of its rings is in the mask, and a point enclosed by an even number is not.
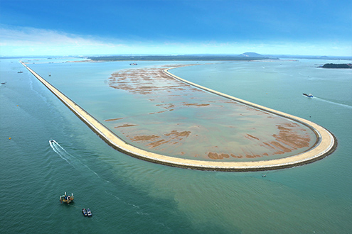
<svg viewBox="0 0 352 234"><path fill-rule="evenodd" d="M93 61L247 61L265 60L270 57L255 52L245 52L241 55L112 55L88 58Z"/></svg>

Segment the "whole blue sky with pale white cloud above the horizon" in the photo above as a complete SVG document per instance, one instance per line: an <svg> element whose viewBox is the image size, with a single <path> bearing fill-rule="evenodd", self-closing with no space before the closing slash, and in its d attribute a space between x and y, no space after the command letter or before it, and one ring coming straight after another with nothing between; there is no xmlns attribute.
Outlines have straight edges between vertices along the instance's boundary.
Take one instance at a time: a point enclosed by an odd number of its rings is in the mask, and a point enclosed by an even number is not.
<svg viewBox="0 0 352 234"><path fill-rule="evenodd" d="M351 0L0 0L0 56L352 56Z"/></svg>

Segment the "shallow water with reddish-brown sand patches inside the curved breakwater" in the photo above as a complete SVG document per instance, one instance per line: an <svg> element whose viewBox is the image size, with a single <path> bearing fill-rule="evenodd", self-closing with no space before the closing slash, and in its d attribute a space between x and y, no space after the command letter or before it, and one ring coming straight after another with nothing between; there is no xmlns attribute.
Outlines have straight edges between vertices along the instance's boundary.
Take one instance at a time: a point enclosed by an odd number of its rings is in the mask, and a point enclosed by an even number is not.
<svg viewBox="0 0 352 234"><path fill-rule="evenodd" d="M149 130L137 127L145 128L148 125L143 118L132 119L127 116L105 120L114 121L114 128L119 128L118 135L125 135L135 145L154 152L181 158L196 157L198 160L268 160L273 156L288 157L293 151L308 150L317 141L314 131L304 124L240 104L233 99L214 97L203 89L171 77L164 72L164 67L124 69L112 74L109 85L147 99L160 108L160 111L149 113L159 114L157 124L151 123ZM165 114L169 111L172 111L173 117L178 116L176 121L169 120L169 115ZM216 116L220 116L221 123L218 123L219 118ZM188 124L178 122L185 118L190 119ZM206 119L206 122L200 123L199 119ZM252 119L260 121L267 129L253 132ZM210 126L216 128L225 141L214 140L214 133L208 130Z"/></svg>

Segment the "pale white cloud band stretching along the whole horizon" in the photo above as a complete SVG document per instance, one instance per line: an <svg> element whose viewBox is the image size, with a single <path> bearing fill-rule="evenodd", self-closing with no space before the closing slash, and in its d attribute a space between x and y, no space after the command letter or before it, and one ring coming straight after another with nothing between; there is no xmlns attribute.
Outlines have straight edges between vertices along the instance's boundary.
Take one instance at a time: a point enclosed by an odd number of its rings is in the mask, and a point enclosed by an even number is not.
<svg viewBox="0 0 352 234"><path fill-rule="evenodd" d="M349 43L216 42L151 43L117 38L97 38L28 27L0 24L0 55L112 55L112 54L240 54L258 52L271 55L352 55Z"/></svg>

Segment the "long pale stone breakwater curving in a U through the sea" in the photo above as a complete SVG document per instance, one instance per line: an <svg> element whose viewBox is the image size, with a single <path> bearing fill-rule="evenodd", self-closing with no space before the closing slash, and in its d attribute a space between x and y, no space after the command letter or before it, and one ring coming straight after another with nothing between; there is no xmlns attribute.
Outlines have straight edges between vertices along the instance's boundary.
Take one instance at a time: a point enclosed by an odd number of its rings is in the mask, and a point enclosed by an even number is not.
<svg viewBox="0 0 352 234"><path fill-rule="evenodd" d="M291 116L286 113L275 111L270 108L265 108L264 106L252 104L250 102L247 102L241 99L236 99L233 96L228 96L227 94L222 94L218 91L213 91L206 87L201 87L198 84L193 84L192 82L188 82L184 79L181 79L180 77L176 77L175 75L171 74L168 71L169 69L166 69L164 72L168 74L170 77L174 79L178 79L181 82L185 82L186 84L190 84L194 87L197 87L198 89L203 89L213 94L223 96L226 99L238 101L247 106L252 106L254 108L258 108L260 110L274 113L278 116L289 118L293 121L302 123L314 131L318 140L314 145L314 147L311 147L311 149L306 150L305 152L302 152L298 155L294 155L292 157L285 157L277 160L265 160L265 161L256 161L256 162L208 162L208 161L200 161L200 160L187 160L187 159L182 159L177 157L169 157L166 155L156 154L154 152L142 150L139 147L135 147L133 145L129 145L128 143L124 142L121 138L119 138L117 135L112 133L111 130L109 130L102 123L97 121L93 116L91 116L85 110L80 108L80 106L75 104L75 102L70 100L67 96L65 96L55 87L53 87L45 79L43 79L41 76L36 74L36 72L34 72L30 67L23 64L23 62L21 63L51 92L53 92L53 94L55 94L55 96L57 96L58 99L60 99L60 101L63 101L63 104L65 104L65 106L68 106L68 108L70 108L70 110L73 111L73 113L75 113L76 116L78 116L84 123L87 124L88 127L90 127L95 133L97 133L97 135L99 135L100 138L102 138L102 140L105 140L107 144L111 145L112 147L114 147L116 150L119 150L120 152L124 152L127 155L131 155L133 157L137 157L139 159L146 160L149 162L155 162L162 165L169 165L174 167L183 167L188 169L218 170L218 171L262 171L262 170L268 170L268 169L294 167L297 165L304 165L309 162L314 162L323 157L326 157L326 155L329 155L331 152L334 151L336 147L336 140L334 138L334 135L329 133L329 131L326 130L325 128L322 128L321 126L315 123L306 121L296 116Z"/></svg>

